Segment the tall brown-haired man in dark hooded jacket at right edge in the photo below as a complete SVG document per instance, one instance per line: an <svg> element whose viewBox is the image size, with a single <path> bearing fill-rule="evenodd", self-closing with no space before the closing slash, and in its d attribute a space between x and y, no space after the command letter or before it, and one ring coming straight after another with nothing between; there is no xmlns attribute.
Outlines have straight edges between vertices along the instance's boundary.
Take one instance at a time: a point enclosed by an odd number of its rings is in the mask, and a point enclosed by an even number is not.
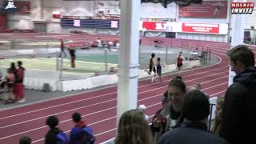
<svg viewBox="0 0 256 144"><path fill-rule="evenodd" d="M256 68L254 52L247 46L228 51L236 76L225 94L220 135L230 144L256 143Z"/></svg>

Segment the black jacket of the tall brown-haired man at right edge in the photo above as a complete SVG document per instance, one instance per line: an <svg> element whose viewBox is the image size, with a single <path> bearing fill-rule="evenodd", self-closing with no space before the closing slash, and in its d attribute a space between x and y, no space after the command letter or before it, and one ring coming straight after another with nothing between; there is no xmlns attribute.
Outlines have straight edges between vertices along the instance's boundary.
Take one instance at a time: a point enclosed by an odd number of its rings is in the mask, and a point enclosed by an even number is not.
<svg viewBox="0 0 256 144"><path fill-rule="evenodd" d="M234 77L226 90L220 135L230 144L256 143L256 68Z"/></svg>

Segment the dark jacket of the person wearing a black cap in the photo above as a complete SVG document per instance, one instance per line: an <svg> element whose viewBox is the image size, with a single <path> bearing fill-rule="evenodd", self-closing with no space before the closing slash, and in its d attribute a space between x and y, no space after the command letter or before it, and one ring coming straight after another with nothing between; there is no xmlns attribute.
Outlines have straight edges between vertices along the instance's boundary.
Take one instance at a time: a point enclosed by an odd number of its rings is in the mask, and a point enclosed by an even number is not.
<svg viewBox="0 0 256 144"><path fill-rule="evenodd" d="M164 134L158 144L228 144L228 142L207 131L205 124L183 122L182 126Z"/></svg>

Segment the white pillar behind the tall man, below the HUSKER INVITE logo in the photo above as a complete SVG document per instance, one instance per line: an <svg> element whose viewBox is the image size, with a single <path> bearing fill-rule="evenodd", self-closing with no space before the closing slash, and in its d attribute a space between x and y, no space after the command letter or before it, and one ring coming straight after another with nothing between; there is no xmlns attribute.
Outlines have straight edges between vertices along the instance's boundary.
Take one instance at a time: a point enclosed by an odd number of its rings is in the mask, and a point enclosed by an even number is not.
<svg viewBox="0 0 256 144"><path fill-rule="evenodd" d="M246 0L234 0L233 2L246 2ZM231 26L232 26L232 34L231 34L231 44L230 48L234 48L234 46L243 44L244 37L244 14L231 14ZM233 78L235 74L231 71L230 68L230 77L229 77L229 86L233 83Z"/></svg>

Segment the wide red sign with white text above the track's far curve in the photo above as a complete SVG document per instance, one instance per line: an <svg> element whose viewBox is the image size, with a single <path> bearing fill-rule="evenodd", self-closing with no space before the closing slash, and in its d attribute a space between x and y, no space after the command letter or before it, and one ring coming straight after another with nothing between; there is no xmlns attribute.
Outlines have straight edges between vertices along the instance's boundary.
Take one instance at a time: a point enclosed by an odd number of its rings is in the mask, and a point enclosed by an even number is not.
<svg viewBox="0 0 256 144"><path fill-rule="evenodd" d="M182 32L219 34L219 24L182 22Z"/></svg>

